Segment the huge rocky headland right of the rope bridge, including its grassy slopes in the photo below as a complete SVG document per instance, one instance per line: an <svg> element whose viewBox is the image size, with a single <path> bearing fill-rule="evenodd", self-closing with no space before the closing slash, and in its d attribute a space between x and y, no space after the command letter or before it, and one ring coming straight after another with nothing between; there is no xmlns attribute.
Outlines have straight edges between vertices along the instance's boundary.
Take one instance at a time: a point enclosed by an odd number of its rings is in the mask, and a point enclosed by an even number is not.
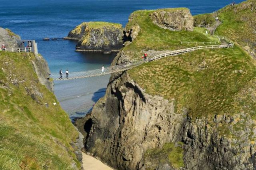
<svg viewBox="0 0 256 170"><path fill-rule="evenodd" d="M138 60L144 51L153 56L185 48L180 39L204 38L198 31L173 32L148 22L153 12L132 14L126 28L138 25L141 31L112 65ZM80 126L86 128L85 149L120 170L253 170L255 64L236 45L113 74L106 95Z"/></svg>

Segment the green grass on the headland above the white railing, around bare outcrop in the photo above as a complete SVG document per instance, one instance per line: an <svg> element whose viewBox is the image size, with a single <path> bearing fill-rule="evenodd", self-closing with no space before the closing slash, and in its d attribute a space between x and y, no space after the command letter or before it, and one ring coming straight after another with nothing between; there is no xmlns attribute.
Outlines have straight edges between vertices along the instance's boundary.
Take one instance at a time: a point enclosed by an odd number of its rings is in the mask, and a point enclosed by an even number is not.
<svg viewBox="0 0 256 170"><path fill-rule="evenodd" d="M182 8L187 10L186 8ZM177 10L177 9L164 9ZM128 22L126 30L133 26L140 26L140 33L136 40L124 47L124 51L130 51L134 58L140 58L142 50L174 50L193 47L194 44L180 44L180 42L218 42L217 38L205 34L205 30L196 28L193 32L170 31L158 27L152 22L150 14L156 10L140 10L132 13L133 20Z"/></svg>

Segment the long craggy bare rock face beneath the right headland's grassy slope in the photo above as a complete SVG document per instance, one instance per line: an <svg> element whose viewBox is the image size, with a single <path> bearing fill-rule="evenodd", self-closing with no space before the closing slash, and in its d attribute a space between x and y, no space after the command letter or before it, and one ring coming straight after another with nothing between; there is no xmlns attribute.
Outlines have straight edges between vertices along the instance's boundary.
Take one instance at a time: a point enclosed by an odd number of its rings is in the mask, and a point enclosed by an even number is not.
<svg viewBox="0 0 256 170"><path fill-rule="evenodd" d="M127 60L120 53L114 62ZM234 100L252 100L254 82ZM244 110L193 118L189 107L177 109L176 99L148 95L128 73L112 75L92 111L86 150L120 170L254 169L253 116Z"/></svg>

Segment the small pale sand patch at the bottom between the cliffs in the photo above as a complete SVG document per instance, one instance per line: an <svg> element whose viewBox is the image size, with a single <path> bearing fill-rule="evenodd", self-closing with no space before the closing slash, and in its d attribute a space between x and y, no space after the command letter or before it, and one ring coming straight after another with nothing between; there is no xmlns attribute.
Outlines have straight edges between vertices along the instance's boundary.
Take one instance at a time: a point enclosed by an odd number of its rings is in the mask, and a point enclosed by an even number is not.
<svg viewBox="0 0 256 170"><path fill-rule="evenodd" d="M82 152L84 170L113 170L96 158Z"/></svg>

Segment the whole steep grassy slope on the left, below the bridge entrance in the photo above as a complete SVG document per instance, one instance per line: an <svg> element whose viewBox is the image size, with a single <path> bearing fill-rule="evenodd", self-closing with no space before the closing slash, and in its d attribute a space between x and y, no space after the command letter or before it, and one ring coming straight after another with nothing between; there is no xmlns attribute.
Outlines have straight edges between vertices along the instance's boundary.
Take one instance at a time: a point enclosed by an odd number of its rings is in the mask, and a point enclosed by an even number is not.
<svg viewBox="0 0 256 170"><path fill-rule="evenodd" d="M54 94L38 82L34 59L32 53L0 51L0 169L70 169L70 156L77 160L69 143L78 132L60 105L53 105ZM10 79L24 82L16 86ZM38 90L38 101L25 87Z"/></svg>

